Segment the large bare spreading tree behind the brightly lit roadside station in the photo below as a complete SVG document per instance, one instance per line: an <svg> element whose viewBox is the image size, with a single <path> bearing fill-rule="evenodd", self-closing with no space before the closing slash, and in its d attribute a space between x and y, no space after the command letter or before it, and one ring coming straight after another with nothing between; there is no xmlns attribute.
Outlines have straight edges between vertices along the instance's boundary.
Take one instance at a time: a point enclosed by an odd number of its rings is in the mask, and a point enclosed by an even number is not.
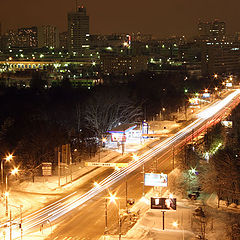
<svg viewBox="0 0 240 240"><path fill-rule="evenodd" d="M134 104L124 92L100 91L87 103L85 120L87 127L101 137L112 128L137 121L142 109Z"/></svg>

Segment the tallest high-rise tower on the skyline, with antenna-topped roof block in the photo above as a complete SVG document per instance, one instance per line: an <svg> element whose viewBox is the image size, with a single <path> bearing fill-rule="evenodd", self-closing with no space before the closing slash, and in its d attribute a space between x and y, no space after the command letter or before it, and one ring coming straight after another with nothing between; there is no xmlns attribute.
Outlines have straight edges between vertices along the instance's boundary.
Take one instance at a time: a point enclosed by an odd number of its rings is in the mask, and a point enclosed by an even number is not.
<svg viewBox="0 0 240 240"><path fill-rule="evenodd" d="M68 50L77 54L89 49L89 16L84 6L68 13Z"/></svg>

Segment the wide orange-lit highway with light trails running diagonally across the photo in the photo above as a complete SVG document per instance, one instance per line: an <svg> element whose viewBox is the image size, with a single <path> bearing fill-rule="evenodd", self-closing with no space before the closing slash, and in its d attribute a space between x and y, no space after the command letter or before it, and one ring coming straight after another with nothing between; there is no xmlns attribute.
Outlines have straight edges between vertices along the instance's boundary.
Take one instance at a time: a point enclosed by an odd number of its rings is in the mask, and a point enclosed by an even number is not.
<svg viewBox="0 0 240 240"><path fill-rule="evenodd" d="M226 111L234 108L240 102L240 90L235 90L221 101L217 101L206 110L198 114L197 119L188 126L178 131L173 136L157 143L151 149L139 155L138 160L131 160L129 166L120 170L106 170L99 176L98 185L92 187L92 183L86 183L79 190L69 194L68 196L23 217L23 234L27 236L29 233L39 231L42 224L48 222L51 225L58 224L57 229L52 233L49 239L97 239L104 231L104 197L107 189L118 189L118 195L124 195L124 188L121 182L126 178L129 182L129 193L135 199L141 197L142 175L140 174L141 166L148 164L154 157L168 161L166 157L172 146L180 147L184 143L190 141L193 137L221 121ZM167 162L169 166L169 161ZM121 181L123 179L123 181ZM124 200L121 200L124 205ZM125 205L124 205L125 206ZM110 211L109 219L116 219L115 211ZM19 220L16 220L19 221ZM115 221L116 222L116 221ZM0 227L3 227L0 226ZM17 226L12 226L12 239L20 239L20 231ZM60 236L60 237L59 237Z"/></svg>

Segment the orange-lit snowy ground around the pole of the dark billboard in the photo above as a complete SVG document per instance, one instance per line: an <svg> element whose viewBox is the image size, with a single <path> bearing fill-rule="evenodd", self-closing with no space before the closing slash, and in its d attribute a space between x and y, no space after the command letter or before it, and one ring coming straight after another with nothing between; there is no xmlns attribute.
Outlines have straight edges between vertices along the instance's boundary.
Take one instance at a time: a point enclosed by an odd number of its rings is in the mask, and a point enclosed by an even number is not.
<svg viewBox="0 0 240 240"><path fill-rule="evenodd" d="M174 174L174 173L172 173ZM170 174L171 176L171 174ZM189 201L180 199L177 196L177 210L165 212L165 230L163 228L162 211L150 209L150 199L154 196L169 197L168 188L153 188L137 201L131 208L131 212L138 212L139 219L137 223L123 235L122 239L158 239L158 240L185 240L193 239L195 234L191 230L192 211L195 206L189 206ZM173 226L173 222L178 223L178 227ZM114 240L119 236L102 236L99 240Z"/></svg>

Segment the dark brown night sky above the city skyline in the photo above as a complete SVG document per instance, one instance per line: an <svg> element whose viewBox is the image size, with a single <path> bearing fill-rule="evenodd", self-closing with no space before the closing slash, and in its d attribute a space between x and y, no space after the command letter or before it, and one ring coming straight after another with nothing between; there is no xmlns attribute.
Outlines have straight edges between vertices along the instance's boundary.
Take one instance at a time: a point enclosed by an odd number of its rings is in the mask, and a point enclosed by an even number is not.
<svg viewBox="0 0 240 240"><path fill-rule="evenodd" d="M240 31L239 0L83 0L90 16L90 33L143 32L158 37L193 35L199 19L220 19L227 32ZM74 0L1 0L3 31L34 25L67 29L67 12Z"/></svg>

